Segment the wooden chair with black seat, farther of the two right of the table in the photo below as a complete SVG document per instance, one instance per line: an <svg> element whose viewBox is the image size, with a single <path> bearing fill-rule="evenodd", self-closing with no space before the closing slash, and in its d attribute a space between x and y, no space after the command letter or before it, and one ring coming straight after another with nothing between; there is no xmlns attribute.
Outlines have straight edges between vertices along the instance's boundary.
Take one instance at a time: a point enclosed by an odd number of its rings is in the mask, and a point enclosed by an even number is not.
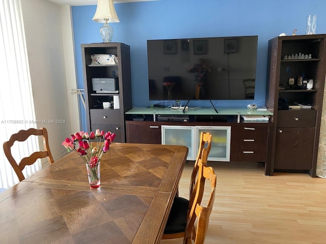
<svg viewBox="0 0 326 244"><path fill-rule="evenodd" d="M170 215L162 235L162 239L183 238L185 236L186 224L191 213L191 209L198 203L201 203L203 192L200 192L199 180L203 178L200 168L202 165L207 166L208 148L203 148L201 158L198 160L198 179L196 181L194 191L189 200L182 197L175 197ZM193 235L196 236L193 225Z"/></svg>

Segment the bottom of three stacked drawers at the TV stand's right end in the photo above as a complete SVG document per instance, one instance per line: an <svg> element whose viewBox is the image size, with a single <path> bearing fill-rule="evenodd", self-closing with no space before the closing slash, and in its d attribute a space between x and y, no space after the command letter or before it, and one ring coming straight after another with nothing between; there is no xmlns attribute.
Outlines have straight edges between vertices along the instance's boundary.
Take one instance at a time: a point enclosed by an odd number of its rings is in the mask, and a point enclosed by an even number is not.
<svg viewBox="0 0 326 244"><path fill-rule="evenodd" d="M266 149L231 150L231 161L266 162Z"/></svg>

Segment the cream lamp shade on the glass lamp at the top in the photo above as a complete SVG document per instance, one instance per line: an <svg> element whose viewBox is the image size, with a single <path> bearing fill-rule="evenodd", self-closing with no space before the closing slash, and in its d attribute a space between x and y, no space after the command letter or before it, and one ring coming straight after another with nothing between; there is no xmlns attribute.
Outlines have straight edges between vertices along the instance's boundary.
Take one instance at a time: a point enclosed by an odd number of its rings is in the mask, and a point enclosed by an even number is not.
<svg viewBox="0 0 326 244"><path fill-rule="evenodd" d="M113 0L97 0L97 8L93 20L98 23L120 22L116 10L114 8Z"/></svg>

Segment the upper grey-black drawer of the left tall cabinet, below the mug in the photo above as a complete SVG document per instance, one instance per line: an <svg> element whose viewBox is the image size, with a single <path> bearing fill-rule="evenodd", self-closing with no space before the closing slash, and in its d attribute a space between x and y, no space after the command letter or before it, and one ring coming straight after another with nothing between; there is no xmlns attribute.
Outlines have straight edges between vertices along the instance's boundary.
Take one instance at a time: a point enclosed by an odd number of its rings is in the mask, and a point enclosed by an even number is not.
<svg viewBox="0 0 326 244"><path fill-rule="evenodd" d="M120 109L90 109L91 124L120 125Z"/></svg>

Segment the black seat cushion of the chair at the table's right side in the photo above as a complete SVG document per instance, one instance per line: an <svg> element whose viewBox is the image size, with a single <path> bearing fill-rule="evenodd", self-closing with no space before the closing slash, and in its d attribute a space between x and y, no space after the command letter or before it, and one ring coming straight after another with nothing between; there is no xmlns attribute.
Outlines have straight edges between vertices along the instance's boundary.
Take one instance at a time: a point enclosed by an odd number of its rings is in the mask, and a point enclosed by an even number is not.
<svg viewBox="0 0 326 244"><path fill-rule="evenodd" d="M187 224L189 200L182 197L175 197L164 234L174 234L185 231Z"/></svg>

